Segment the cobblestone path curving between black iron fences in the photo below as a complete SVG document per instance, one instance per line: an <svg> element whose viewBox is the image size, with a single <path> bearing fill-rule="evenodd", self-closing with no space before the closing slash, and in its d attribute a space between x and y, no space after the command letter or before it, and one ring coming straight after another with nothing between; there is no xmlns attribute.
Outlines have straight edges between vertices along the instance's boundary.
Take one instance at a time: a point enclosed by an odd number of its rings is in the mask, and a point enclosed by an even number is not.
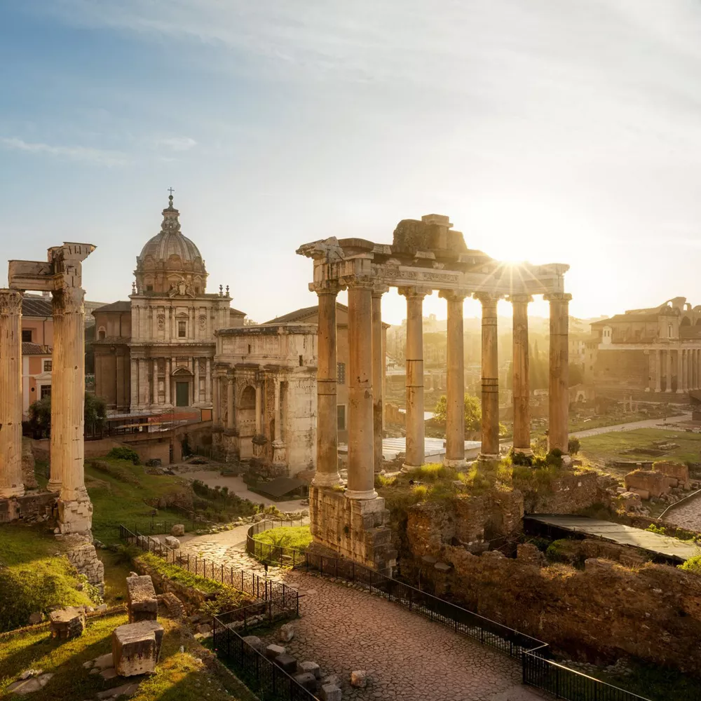
<svg viewBox="0 0 701 701"><path fill-rule="evenodd" d="M240 544L221 533L183 544L186 552L217 562L262 571ZM231 538L233 540L234 538ZM322 674L337 674L343 699L353 701L536 701L522 686L521 664L477 641L368 592L360 592L301 571L270 568L268 575L299 590L301 618L285 644L299 661L313 660ZM274 635L267 642L278 642ZM354 669L369 683L355 689ZM548 697L549 698L549 697Z"/></svg>

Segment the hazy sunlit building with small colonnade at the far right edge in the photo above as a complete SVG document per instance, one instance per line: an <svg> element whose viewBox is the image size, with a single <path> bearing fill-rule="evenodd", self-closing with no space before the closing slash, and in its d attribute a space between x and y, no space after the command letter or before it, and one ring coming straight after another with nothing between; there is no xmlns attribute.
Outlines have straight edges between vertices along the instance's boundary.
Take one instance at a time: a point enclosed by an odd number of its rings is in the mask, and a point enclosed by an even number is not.
<svg viewBox="0 0 701 701"><path fill-rule="evenodd" d="M701 306L692 306L686 297L629 310L591 327L585 383L597 395L686 402L688 392L700 388Z"/></svg>

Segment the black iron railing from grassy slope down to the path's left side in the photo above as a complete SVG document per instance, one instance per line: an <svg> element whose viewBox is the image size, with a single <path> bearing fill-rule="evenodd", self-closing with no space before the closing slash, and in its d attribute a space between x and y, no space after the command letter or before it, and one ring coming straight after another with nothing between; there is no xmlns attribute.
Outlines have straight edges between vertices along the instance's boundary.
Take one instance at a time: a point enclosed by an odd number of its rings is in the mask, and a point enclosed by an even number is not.
<svg viewBox="0 0 701 701"><path fill-rule="evenodd" d="M164 545L158 538L146 536L139 531L131 531L123 525L119 526L119 537L131 545L140 547L144 552L152 552L162 557L168 564L182 567L194 575L229 585L261 601L280 599L286 602L294 601L294 606L299 606L297 591L282 582L275 582L255 572L227 566L221 562L217 563L212 559L191 556L189 552L181 553Z"/></svg>

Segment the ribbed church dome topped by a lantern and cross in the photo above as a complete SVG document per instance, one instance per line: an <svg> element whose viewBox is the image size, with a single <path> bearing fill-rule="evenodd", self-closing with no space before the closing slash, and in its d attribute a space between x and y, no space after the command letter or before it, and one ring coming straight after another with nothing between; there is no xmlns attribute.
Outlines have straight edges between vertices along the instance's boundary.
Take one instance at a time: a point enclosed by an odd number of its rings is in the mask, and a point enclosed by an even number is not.
<svg viewBox="0 0 701 701"><path fill-rule="evenodd" d="M198 247L182 235L179 215L171 194L163 210L161 231L147 241L136 259L139 293L168 292L180 283L186 283L193 294L205 292L205 262Z"/></svg>

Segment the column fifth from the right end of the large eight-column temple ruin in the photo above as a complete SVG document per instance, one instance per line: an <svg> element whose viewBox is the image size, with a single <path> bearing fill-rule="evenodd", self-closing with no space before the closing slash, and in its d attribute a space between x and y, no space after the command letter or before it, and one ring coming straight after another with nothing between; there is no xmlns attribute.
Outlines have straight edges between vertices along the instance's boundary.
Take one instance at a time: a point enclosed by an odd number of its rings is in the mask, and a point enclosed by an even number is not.
<svg viewBox="0 0 701 701"><path fill-rule="evenodd" d="M407 298L407 456L404 469L418 468L426 456L423 420L423 298L427 290L400 287Z"/></svg>

